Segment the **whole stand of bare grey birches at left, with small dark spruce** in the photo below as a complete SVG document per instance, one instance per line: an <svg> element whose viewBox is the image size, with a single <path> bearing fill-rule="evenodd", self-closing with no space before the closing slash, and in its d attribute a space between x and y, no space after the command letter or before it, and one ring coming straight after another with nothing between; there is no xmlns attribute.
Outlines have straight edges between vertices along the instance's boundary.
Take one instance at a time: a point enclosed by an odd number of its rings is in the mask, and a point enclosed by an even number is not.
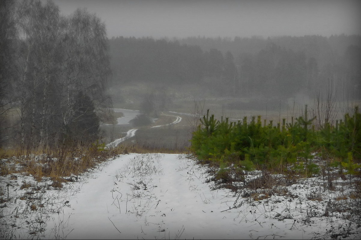
<svg viewBox="0 0 361 240"><path fill-rule="evenodd" d="M0 1L0 140L52 148L98 137L109 107L105 24L52 1Z"/></svg>

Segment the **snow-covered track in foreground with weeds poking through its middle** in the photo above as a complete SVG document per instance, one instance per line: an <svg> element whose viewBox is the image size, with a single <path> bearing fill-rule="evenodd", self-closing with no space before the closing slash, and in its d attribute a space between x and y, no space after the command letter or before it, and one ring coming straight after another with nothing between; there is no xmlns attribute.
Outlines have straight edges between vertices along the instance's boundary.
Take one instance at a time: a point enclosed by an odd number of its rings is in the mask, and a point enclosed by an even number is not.
<svg viewBox="0 0 361 240"><path fill-rule="evenodd" d="M238 212L220 213L234 199L228 190L210 191L203 174L183 155L123 155L94 173L69 200L62 216L70 215L65 236L238 239L248 232L234 221Z"/></svg>

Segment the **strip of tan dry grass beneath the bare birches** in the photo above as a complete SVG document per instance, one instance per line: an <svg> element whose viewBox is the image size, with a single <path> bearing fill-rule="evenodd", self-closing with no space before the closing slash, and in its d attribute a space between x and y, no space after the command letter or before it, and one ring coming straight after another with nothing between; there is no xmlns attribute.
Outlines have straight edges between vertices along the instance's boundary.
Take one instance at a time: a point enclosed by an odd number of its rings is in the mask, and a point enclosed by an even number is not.
<svg viewBox="0 0 361 240"><path fill-rule="evenodd" d="M79 175L117 154L116 150L107 150L96 144L25 152L8 149L1 151L0 173L31 174L38 181L43 177L58 181L62 177Z"/></svg>

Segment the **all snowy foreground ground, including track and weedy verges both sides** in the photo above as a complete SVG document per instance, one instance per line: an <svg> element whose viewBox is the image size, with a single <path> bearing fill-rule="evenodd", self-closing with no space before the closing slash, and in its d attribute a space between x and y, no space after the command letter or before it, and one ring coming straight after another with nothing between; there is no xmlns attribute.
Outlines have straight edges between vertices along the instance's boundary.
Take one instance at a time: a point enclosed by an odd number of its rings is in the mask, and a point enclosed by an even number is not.
<svg viewBox="0 0 361 240"><path fill-rule="evenodd" d="M314 177L234 193L216 189L207 170L186 155L129 154L61 188L49 179L7 175L0 178L0 237L360 239L360 198L352 197L349 179L332 179L333 191ZM260 172L245 177L240 184Z"/></svg>

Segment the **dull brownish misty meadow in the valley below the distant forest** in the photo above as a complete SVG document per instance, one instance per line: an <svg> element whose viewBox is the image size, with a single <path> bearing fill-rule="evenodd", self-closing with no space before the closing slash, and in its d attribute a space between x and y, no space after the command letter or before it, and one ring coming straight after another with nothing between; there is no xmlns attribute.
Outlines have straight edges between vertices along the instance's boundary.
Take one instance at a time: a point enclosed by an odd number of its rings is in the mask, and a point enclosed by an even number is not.
<svg viewBox="0 0 361 240"><path fill-rule="evenodd" d="M141 110L143 96L156 91L156 88L157 86L133 83L119 88L114 87L109 94L112 95L114 107ZM282 123L282 119L290 123L292 117L295 120L296 117L302 116L305 105L308 105L311 116L318 113L314 100L301 94L293 99L281 101L263 96L258 96L258 98L214 97L211 93L203 91L201 86L192 84L164 88L164 94L170 100L166 103L166 110L162 111L154 123L144 126L128 124L103 127L106 130L105 142L124 137L127 130L137 128L135 137L127 139L122 143L123 145L136 145L138 148L144 147L149 150L159 148L163 149L162 151L178 149L183 152L190 146L192 132L200 124L199 119L206 114L207 109L210 109L210 114L214 114L218 120L221 120L221 117L228 117L230 121L237 122L247 116L250 121L252 116L260 115L262 123L265 121L269 124L273 121L273 125ZM342 119L346 112L352 112L353 106L357 103L359 102L336 101L330 111L335 120ZM151 126L173 122L175 116L181 116L182 121L175 125L150 129Z"/></svg>

